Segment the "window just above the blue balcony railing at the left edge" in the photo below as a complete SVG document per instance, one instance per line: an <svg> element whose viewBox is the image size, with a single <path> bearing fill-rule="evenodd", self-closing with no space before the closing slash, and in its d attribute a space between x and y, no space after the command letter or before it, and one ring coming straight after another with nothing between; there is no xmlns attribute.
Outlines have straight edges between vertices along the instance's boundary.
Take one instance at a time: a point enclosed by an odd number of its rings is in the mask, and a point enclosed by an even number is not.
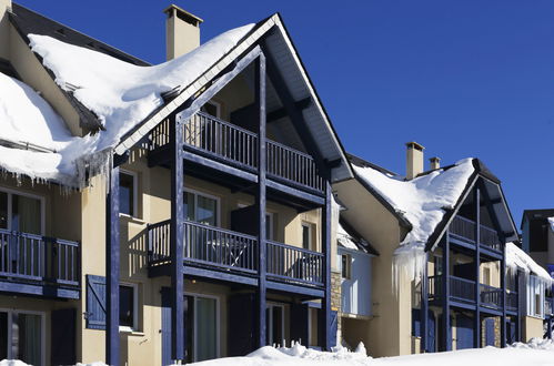
<svg viewBox="0 0 554 366"><path fill-rule="evenodd" d="M42 235L43 200L29 194L0 191L0 228Z"/></svg>

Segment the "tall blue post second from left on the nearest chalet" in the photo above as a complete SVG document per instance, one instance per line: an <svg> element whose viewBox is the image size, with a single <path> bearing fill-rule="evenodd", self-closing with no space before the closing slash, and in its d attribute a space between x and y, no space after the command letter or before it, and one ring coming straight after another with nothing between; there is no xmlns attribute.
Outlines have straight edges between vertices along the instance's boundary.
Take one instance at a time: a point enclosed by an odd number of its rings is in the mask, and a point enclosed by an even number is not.
<svg viewBox="0 0 554 366"><path fill-rule="evenodd" d="M170 121L171 154L171 349L172 358L180 363L184 359L184 213L183 213L183 130L179 116Z"/></svg>

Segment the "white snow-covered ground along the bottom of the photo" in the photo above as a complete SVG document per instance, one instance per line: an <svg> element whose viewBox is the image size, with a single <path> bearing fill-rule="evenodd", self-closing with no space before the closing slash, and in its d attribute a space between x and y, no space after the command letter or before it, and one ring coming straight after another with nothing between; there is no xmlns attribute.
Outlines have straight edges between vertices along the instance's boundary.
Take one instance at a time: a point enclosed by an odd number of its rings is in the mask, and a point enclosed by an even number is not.
<svg viewBox="0 0 554 366"><path fill-rule="evenodd" d="M530 344L514 344L508 348L486 347L444 353L372 358L365 349L345 348L335 352L318 352L294 345L290 348L263 347L245 357L228 357L195 363L202 366L311 366L311 365L374 365L374 366L533 366L554 365L552 340L536 339Z"/></svg>

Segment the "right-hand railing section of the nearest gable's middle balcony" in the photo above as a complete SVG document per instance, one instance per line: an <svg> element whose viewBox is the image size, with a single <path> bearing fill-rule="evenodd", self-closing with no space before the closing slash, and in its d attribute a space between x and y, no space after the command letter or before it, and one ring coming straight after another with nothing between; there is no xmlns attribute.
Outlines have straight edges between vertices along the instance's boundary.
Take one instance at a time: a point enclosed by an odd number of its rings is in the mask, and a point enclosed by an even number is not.
<svg viewBox="0 0 554 366"><path fill-rule="evenodd" d="M268 241L268 275L323 285L324 255L301 247Z"/></svg>

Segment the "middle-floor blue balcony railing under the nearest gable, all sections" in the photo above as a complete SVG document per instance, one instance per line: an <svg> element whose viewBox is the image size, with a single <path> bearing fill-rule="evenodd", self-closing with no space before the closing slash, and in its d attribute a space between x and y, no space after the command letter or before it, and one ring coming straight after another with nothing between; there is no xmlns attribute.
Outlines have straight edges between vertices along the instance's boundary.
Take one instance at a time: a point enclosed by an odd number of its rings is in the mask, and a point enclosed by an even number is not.
<svg viewBox="0 0 554 366"><path fill-rule="evenodd" d="M259 244L255 236L185 221L184 265L219 273L255 277ZM148 227L149 265L170 262L170 221ZM266 277L270 281L323 287L324 255L296 246L266 242Z"/></svg>

